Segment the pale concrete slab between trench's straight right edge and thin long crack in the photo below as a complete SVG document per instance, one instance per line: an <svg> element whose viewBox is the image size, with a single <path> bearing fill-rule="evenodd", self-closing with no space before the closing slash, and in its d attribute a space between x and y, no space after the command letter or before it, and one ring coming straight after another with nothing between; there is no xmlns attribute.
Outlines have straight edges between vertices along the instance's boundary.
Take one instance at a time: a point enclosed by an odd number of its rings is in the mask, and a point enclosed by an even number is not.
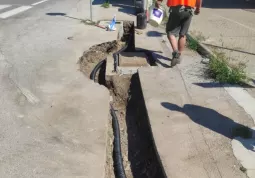
<svg viewBox="0 0 255 178"><path fill-rule="evenodd" d="M190 130L192 122L178 111L189 103L181 76L173 70L154 67L140 69L139 77L156 148L167 176L209 177L203 160L211 162L208 167L215 167L213 160L206 159L210 155L198 152L198 143Z"/></svg>

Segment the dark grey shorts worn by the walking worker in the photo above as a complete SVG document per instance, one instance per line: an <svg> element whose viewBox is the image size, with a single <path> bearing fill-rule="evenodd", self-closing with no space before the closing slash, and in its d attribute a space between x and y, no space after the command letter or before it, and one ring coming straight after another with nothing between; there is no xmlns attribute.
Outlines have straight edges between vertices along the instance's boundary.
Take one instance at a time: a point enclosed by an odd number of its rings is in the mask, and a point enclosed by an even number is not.
<svg viewBox="0 0 255 178"><path fill-rule="evenodd" d="M166 25L168 35L185 36L188 33L193 9L184 6L171 7L169 19Z"/></svg>

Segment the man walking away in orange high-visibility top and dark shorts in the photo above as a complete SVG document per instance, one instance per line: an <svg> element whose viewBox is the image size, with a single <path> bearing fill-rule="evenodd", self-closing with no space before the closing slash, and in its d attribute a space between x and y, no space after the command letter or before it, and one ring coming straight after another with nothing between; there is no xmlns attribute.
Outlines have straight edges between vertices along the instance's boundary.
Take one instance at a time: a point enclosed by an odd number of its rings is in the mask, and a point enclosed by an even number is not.
<svg viewBox="0 0 255 178"><path fill-rule="evenodd" d="M163 0L156 0L156 7L160 7ZM193 14L198 15L202 6L202 0L168 0L170 7L169 19L166 25L166 33L173 48L171 66L181 62L181 54L186 44L186 34L189 30ZM179 40L176 37L179 36Z"/></svg>

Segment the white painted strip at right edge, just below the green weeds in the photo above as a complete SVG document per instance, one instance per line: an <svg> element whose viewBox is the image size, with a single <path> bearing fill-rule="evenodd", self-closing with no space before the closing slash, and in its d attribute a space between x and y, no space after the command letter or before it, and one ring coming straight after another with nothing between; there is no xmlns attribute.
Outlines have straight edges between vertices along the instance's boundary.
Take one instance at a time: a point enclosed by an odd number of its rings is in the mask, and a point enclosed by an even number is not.
<svg viewBox="0 0 255 178"><path fill-rule="evenodd" d="M255 123L255 99L242 87L224 85L225 90L249 114Z"/></svg>

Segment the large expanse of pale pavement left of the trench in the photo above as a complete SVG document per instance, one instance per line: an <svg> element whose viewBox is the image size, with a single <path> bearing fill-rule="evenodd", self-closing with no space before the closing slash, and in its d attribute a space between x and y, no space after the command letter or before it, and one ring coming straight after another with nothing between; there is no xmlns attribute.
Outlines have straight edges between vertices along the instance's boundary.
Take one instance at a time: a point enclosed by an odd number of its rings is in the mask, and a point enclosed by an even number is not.
<svg viewBox="0 0 255 178"><path fill-rule="evenodd" d="M89 1L54 1L3 22L0 177L105 176L109 92L77 61L92 45L114 39L80 22L88 8ZM47 15L57 12L68 17Z"/></svg>

